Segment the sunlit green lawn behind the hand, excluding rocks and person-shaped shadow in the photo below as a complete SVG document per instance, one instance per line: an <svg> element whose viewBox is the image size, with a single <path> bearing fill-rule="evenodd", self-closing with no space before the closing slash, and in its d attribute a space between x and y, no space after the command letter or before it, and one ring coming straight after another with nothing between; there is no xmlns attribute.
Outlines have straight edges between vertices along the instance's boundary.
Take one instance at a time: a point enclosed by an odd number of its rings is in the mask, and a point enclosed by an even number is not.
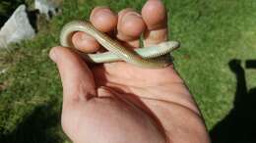
<svg viewBox="0 0 256 143"><path fill-rule="evenodd" d="M0 51L0 142L68 142L60 127L62 89L56 67L48 58L58 45L63 24L88 19L106 5L118 11L140 10L142 1L66 0L62 14L40 25L34 39ZM256 57L255 0L164 0L169 37L181 41L175 68L186 80L211 130L233 108L236 79L228 62ZM248 88L256 86L255 71L245 70ZM253 113L252 113L253 114Z"/></svg>

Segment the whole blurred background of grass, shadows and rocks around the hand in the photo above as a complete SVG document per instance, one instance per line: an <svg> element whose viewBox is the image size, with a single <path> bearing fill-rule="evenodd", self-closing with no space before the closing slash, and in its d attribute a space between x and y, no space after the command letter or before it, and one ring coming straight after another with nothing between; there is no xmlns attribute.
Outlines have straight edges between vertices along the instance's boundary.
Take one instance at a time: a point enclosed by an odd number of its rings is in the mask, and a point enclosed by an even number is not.
<svg viewBox="0 0 256 143"><path fill-rule="evenodd" d="M63 24L88 20L96 6L108 6L115 12L126 7L140 11L145 2L0 0L0 42L7 43L4 40L14 33L4 26L22 4L32 28L27 40L0 46L0 142L70 142L60 126L62 88L48 58L49 49L59 45ZM181 42L173 53L175 69L194 95L213 142L255 143L256 1L163 3L168 11L169 38Z"/></svg>

